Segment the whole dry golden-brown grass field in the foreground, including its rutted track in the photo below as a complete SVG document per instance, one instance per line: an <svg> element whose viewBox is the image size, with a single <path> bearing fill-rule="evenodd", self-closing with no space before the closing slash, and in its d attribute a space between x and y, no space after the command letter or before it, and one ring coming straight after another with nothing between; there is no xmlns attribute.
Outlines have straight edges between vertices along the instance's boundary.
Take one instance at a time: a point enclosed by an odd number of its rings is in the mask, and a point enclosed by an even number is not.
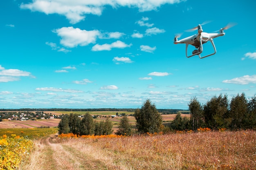
<svg viewBox="0 0 256 170"><path fill-rule="evenodd" d="M256 132L44 137L20 170L255 170ZM38 161L42 160L42 161Z"/></svg>

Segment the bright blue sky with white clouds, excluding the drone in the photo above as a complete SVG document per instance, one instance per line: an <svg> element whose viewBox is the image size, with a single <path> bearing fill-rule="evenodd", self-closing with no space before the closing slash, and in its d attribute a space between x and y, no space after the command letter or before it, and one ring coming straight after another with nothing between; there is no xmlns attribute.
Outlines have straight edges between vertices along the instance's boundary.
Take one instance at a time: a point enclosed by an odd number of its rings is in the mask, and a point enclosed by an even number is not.
<svg viewBox="0 0 256 170"><path fill-rule="evenodd" d="M192 97L250 98L255 7L253 0L1 1L0 108L140 108L150 99L187 109ZM186 58L174 35L194 35L186 30L205 21L208 33L236 25L214 39L215 55Z"/></svg>

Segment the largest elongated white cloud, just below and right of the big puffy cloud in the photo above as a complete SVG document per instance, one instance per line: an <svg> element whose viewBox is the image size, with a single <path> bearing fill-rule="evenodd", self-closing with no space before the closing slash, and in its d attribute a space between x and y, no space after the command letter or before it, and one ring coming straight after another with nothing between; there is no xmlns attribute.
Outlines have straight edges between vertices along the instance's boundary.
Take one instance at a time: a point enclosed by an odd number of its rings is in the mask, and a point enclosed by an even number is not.
<svg viewBox="0 0 256 170"><path fill-rule="evenodd" d="M103 45L96 44L92 47L92 51L104 51L104 50L110 51L112 48L124 49L130 46L132 46L132 44L128 45L118 40L116 42L113 42L112 44L103 44Z"/></svg>

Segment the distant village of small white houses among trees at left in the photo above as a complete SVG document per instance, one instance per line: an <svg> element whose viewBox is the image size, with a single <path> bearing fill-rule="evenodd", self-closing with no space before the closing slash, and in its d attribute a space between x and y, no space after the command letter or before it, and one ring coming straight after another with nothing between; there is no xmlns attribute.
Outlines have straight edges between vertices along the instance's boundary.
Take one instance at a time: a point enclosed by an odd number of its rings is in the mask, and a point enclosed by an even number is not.
<svg viewBox="0 0 256 170"><path fill-rule="evenodd" d="M43 111L37 111L35 113L28 111L19 111L19 112L0 112L0 121L2 119L8 120L36 120L36 119L60 119L60 115L52 115L52 113L44 113Z"/></svg>

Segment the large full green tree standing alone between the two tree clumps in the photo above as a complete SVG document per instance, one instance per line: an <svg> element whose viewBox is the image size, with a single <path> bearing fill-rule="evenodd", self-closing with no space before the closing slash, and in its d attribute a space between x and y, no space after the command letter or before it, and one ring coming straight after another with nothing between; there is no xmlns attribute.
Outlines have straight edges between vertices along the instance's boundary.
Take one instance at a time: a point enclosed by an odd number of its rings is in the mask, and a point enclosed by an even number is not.
<svg viewBox="0 0 256 170"><path fill-rule="evenodd" d="M141 109L135 110L135 119L138 132L154 133L161 130L162 116L158 113L155 104L147 99Z"/></svg>

